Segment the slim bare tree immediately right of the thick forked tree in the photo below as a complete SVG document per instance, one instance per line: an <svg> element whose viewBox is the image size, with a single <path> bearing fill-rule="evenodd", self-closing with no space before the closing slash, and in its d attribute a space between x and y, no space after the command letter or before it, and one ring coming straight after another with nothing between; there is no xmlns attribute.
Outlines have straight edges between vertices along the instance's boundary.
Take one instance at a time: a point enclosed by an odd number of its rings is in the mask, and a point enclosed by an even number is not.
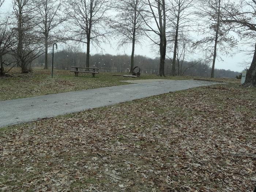
<svg viewBox="0 0 256 192"><path fill-rule="evenodd" d="M190 22L189 17L191 17L191 12L187 11L192 5L192 0L170 0L170 15L168 19L172 23L174 28L174 49L173 49L173 59L172 59L172 75L176 75L176 53L178 48L178 36L182 32L184 33L184 28L188 28L188 23Z"/></svg>

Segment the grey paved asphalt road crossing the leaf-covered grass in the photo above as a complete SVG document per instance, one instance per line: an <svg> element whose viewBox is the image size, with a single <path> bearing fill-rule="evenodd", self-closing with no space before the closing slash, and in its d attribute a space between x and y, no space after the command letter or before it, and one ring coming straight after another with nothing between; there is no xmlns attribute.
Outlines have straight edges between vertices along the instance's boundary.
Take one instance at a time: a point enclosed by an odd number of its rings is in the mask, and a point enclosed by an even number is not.
<svg viewBox="0 0 256 192"><path fill-rule="evenodd" d="M166 80L0 101L0 127L212 84Z"/></svg>

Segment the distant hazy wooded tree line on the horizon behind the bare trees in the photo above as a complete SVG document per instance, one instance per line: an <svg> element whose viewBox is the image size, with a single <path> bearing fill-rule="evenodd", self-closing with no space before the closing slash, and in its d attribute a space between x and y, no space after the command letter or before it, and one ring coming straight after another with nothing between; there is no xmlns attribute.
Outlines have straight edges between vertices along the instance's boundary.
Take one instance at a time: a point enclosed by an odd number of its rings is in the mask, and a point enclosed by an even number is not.
<svg viewBox="0 0 256 192"><path fill-rule="evenodd" d="M33 62L33 66L42 68L44 67L44 58L42 55ZM72 66L85 67L86 53L79 51L79 49L64 49L54 53L54 68L61 70L71 70ZM52 59L49 56L49 59ZM128 73L130 71L130 56L123 55L111 55L111 54L94 54L90 55L91 67L99 68L102 72L114 72L114 73ZM159 74L159 57L150 58L141 55L134 56L135 66L140 67L143 74ZM170 75L172 60L166 60L165 72ZM51 67L51 64L49 65ZM217 78L235 78L239 76L239 72L215 69L215 77ZM211 66L204 60L183 61L180 66L180 76L203 76L208 77L211 75Z"/></svg>

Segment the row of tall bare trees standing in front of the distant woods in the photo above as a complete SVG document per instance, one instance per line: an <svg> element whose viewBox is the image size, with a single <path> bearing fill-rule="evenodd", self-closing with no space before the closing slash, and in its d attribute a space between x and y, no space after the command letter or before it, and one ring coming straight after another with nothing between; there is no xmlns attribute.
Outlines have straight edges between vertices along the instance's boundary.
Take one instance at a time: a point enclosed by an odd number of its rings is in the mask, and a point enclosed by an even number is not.
<svg viewBox="0 0 256 192"><path fill-rule="evenodd" d="M53 42L85 44L85 66L91 67L91 46L101 49L101 43L115 38L118 47L132 47L129 67L125 65L130 72L135 45L150 39L159 54L159 76L182 75L188 55L200 51L204 63L211 63L213 78L216 59L237 46L232 34L254 41L255 8L255 0L12 0L12 11L0 20L0 75L11 63L4 60L7 54L22 72L44 54L48 69ZM255 85L256 52L250 51L254 56L245 84Z"/></svg>

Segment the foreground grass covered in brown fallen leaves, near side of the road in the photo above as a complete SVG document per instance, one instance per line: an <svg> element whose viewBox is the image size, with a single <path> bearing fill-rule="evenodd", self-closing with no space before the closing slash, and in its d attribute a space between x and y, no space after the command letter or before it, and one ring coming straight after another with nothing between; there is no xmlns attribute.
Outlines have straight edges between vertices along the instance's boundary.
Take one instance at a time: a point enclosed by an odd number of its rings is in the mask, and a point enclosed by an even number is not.
<svg viewBox="0 0 256 192"><path fill-rule="evenodd" d="M2 191L251 192L256 89L200 87L2 128L0 165Z"/></svg>

